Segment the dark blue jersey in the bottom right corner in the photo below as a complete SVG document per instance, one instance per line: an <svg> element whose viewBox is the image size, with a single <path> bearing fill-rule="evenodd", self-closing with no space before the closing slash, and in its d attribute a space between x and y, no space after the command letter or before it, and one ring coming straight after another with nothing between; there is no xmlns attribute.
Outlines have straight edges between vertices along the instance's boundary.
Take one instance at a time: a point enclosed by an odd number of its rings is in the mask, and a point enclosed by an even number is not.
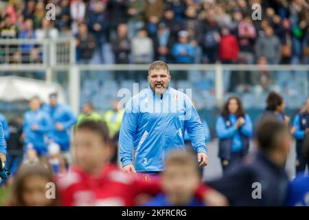
<svg viewBox="0 0 309 220"><path fill-rule="evenodd" d="M287 206L309 206L309 176L299 173L288 187Z"/></svg>

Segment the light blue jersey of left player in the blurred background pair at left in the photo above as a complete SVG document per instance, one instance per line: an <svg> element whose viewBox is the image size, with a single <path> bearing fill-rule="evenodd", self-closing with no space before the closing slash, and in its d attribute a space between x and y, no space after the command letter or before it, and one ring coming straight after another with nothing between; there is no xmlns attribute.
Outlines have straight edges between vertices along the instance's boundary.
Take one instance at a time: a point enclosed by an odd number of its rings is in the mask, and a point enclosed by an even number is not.
<svg viewBox="0 0 309 220"><path fill-rule="evenodd" d="M34 131L32 128L34 124L38 125L38 129ZM25 146L32 146L36 150L40 150L42 148L47 148L45 144L45 136L51 129L51 120L49 115L38 109L37 111L27 111L23 117L23 133L25 135Z"/></svg>

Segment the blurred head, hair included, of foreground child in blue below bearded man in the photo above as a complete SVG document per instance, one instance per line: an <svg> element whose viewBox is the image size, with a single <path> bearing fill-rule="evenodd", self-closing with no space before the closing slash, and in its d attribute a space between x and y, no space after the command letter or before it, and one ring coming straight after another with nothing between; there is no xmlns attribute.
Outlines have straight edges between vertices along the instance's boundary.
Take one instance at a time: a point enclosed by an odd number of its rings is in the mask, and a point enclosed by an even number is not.
<svg viewBox="0 0 309 220"><path fill-rule="evenodd" d="M170 203L174 205L190 203L200 181L194 155L185 151L172 151L168 155L162 173L162 188Z"/></svg>

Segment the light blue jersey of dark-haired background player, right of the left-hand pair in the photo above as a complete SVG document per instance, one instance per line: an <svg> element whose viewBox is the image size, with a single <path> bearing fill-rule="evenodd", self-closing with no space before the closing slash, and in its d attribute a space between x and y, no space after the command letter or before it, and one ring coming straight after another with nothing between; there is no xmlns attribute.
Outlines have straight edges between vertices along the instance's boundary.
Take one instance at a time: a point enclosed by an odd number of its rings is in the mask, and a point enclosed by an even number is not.
<svg viewBox="0 0 309 220"><path fill-rule="evenodd" d="M69 150L69 134L73 124L76 124L76 115L74 115L73 111L71 111L71 109L65 104L56 104L55 107L45 104L43 110L48 113L50 118L52 118L52 130L49 133L49 138L59 144L62 151ZM62 124L62 131L56 129L57 122Z"/></svg>

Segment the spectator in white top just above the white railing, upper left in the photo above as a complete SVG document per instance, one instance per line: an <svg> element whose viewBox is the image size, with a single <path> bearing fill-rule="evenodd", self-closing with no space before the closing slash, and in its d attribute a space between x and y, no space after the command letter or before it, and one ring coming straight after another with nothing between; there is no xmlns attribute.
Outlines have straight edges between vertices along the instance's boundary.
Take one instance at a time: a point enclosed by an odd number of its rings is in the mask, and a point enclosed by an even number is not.
<svg viewBox="0 0 309 220"><path fill-rule="evenodd" d="M36 30L36 39L58 39L59 32L52 21L42 19L41 28Z"/></svg>

